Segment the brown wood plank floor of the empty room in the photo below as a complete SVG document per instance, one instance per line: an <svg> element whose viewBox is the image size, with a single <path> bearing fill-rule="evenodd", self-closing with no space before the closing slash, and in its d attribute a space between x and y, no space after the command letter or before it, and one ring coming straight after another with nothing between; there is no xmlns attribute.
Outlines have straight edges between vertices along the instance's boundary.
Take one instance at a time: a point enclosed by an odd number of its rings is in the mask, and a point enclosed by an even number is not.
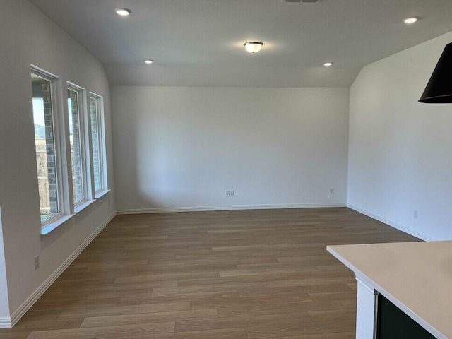
<svg viewBox="0 0 452 339"><path fill-rule="evenodd" d="M119 215L0 338L355 338L326 245L412 241L348 208Z"/></svg>

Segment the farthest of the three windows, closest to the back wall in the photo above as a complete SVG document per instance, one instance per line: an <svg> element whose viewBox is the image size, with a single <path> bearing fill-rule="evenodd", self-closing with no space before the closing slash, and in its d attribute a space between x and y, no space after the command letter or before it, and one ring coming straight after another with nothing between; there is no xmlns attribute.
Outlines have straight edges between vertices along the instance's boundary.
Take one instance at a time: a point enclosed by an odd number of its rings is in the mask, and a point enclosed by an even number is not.
<svg viewBox="0 0 452 339"><path fill-rule="evenodd" d="M96 193L107 189L104 175L104 156L102 136L102 97L90 95L91 141L93 143L93 177Z"/></svg>

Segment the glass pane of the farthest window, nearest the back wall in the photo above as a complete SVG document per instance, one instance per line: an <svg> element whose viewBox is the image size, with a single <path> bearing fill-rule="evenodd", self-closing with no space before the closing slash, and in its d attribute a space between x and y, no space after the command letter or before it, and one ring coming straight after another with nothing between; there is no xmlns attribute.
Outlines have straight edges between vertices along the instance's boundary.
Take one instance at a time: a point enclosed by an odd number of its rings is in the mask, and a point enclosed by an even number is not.
<svg viewBox="0 0 452 339"><path fill-rule="evenodd" d="M90 97L91 140L93 142L93 170L94 190L100 191L102 187L102 146L100 135L100 98Z"/></svg>

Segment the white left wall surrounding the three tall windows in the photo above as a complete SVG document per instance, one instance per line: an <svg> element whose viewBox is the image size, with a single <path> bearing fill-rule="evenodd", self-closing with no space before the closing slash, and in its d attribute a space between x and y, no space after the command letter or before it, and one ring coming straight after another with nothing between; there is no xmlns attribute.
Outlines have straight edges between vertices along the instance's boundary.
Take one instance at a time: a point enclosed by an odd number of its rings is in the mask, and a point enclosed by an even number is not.
<svg viewBox="0 0 452 339"><path fill-rule="evenodd" d="M63 85L71 81L105 98L107 169L112 188L109 83L102 64L28 1L4 0L1 8L0 205L10 312L4 314L1 305L0 319L14 316L114 211L114 195L107 194L41 239L30 64L56 74ZM35 270L37 254L40 268Z"/></svg>

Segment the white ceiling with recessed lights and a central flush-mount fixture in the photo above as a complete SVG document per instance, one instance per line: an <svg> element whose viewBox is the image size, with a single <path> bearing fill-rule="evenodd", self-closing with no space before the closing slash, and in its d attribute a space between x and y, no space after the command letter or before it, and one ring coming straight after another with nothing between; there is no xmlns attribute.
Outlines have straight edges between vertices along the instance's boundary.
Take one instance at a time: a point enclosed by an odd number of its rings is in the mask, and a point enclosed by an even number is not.
<svg viewBox="0 0 452 339"><path fill-rule="evenodd" d="M112 85L350 86L362 66L452 31L452 0L30 1L102 61ZM408 16L421 20L407 26ZM245 51L250 40L261 52Z"/></svg>

